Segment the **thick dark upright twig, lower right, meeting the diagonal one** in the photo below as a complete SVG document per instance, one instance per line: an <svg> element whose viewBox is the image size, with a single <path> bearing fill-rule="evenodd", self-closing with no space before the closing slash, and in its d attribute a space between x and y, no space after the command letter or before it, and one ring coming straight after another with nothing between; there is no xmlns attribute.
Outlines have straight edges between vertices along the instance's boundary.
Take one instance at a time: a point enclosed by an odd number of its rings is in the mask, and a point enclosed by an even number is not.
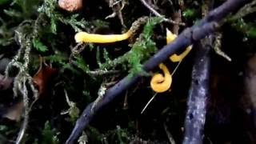
<svg viewBox="0 0 256 144"><path fill-rule="evenodd" d="M206 99L209 96L210 35L201 40L192 71L190 94L187 101L185 137L183 144L202 144L203 128L206 120Z"/></svg>

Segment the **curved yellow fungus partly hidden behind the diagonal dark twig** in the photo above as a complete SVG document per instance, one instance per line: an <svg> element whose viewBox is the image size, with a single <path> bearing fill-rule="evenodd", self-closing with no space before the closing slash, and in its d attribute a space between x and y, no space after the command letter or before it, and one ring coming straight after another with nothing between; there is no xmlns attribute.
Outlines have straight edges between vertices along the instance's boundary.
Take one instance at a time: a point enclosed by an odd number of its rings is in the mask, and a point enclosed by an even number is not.
<svg viewBox="0 0 256 144"><path fill-rule="evenodd" d="M166 29L166 43L169 44L170 42L173 42L174 39L177 38L176 34L173 34L170 32L170 30ZM190 53L190 50L192 49L192 46L188 46L185 51L182 52L182 54L173 54L170 56L171 62L181 62L183 58L186 57L187 54Z"/></svg>

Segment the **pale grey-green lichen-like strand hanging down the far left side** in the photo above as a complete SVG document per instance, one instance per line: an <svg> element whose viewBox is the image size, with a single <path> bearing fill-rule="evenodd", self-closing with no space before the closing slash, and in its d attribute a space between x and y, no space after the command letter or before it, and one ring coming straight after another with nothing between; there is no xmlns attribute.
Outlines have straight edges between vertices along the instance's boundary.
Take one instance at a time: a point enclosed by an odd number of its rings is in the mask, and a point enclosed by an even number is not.
<svg viewBox="0 0 256 144"><path fill-rule="evenodd" d="M29 98L29 90L32 90L34 100L38 99L38 90L34 87L33 79L28 73L28 66L30 63L30 51L32 48L32 39L37 34L36 25L38 19L33 23L34 29L32 30L32 34L29 35L26 33L27 26L30 26L31 23L22 23L18 26L18 29L15 30L15 36L17 38L18 45L20 49L18 53L14 56L14 58L10 61L10 63L6 66L6 78L9 78L10 71L13 67L18 68L18 74L14 78L14 96L22 95L22 100L24 103L24 120L22 123L22 127L19 131L18 138L16 143L20 143L22 138L26 132L26 126L29 120L29 112L30 106L30 98ZM32 24L32 25L33 25Z"/></svg>

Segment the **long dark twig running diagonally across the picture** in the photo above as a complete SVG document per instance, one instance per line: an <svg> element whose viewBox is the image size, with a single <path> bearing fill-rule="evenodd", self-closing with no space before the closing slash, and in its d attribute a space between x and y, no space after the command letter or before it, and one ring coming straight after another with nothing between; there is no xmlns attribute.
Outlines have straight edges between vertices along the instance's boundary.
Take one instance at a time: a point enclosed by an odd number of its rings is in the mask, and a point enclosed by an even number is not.
<svg viewBox="0 0 256 144"><path fill-rule="evenodd" d="M155 66L158 66L159 63L165 61L171 54L174 54L175 51L184 50L186 46L190 46L193 42L213 33L214 30L218 28L217 22L220 22L222 18L225 18L230 12L238 10L238 8L246 4L246 2L250 2L250 0L229 0L223 3L222 6L212 10L210 14L198 22L197 25L184 30L174 42L164 46L162 50L159 50L157 54L154 54L154 56L143 65L143 69L146 71L152 70ZM94 118L94 114L96 114L98 110L101 110L103 106L106 106L113 101L114 98L120 96L119 94L134 84L139 77L139 75L135 75L132 78L130 76L123 78L120 82L106 91L104 98L102 98L101 102L98 102L97 106L94 106L93 111L91 110L91 107L94 102L90 103L82 112L80 118L78 118L66 143L74 143L78 136L82 134L82 130L88 126L89 122Z"/></svg>

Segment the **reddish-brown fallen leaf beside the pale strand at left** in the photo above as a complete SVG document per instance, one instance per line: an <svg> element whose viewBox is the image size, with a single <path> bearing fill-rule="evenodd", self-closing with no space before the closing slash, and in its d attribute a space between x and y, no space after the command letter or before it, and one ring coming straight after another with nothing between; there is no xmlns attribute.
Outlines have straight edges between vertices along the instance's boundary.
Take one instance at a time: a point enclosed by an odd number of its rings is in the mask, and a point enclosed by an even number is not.
<svg viewBox="0 0 256 144"><path fill-rule="evenodd" d="M50 78L57 72L51 66L47 66L45 62L41 62L38 72L34 74L33 82L38 87L38 95L41 96L46 92Z"/></svg>

